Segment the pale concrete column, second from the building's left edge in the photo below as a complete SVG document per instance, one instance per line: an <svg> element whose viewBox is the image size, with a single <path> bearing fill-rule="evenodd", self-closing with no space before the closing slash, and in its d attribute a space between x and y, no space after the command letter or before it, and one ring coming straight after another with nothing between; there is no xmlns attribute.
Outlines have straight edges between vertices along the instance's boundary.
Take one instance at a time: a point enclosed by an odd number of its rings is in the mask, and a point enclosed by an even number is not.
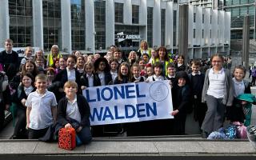
<svg viewBox="0 0 256 160"><path fill-rule="evenodd" d="M42 0L32 1L33 6L33 46L43 49Z"/></svg>

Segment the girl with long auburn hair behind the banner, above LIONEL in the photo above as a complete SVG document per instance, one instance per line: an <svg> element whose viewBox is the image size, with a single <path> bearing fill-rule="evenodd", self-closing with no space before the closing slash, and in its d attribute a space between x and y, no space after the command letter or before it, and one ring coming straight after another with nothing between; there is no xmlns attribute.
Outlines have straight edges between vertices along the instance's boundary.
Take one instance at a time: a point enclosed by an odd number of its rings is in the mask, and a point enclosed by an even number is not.
<svg viewBox="0 0 256 160"><path fill-rule="evenodd" d="M130 66L127 62L122 62L119 66L118 77L114 79L114 84L131 82Z"/></svg>

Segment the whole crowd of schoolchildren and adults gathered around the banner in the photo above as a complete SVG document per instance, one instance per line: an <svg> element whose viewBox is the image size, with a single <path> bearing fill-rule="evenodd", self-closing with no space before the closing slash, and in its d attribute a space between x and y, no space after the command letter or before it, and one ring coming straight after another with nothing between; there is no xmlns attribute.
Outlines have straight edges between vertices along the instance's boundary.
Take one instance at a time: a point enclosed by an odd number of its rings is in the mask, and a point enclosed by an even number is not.
<svg viewBox="0 0 256 160"><path fill-rule="evenodd" d="M246 69L236 66L231 73L223 67L224 58L214 54L210 62L191 60L186 65L180 54L171 56L165 46L150 48L142 41L138 51L126 58L117 46L101 54L74 51L64 56L53 45L50 54L27 46L22 61L12 50L13 42L5 41L0 53L2 70L1 129L4 110L16 117L11 138L41 138L53 124L74 127L82 142L106 133L122 135L186 134L186 115L194 113L206 137L222 127L224 119L244 122L239 94L250 93L244 80ZM82 90L128 82L169 80L174 119L90 126L90 106L81 96ZM6 83L7 82L7 83ZM234 105L236 107L234 107Z"/></svg>

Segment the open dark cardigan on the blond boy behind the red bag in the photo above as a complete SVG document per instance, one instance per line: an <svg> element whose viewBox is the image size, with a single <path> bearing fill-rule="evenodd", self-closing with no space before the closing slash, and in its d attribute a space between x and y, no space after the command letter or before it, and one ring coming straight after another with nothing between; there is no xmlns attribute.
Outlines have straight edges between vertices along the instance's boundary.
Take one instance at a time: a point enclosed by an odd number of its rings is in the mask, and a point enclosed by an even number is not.
<svg viewBox="0 0 256 160"><path fill-rule="evenodd" d="M67 98L64 97L58 102L58 111L57 111L57 122L62 126L65 126L70 122L70 118L66 115L67 108ZM81 114L81 123L80 126L90 126L90 106L82 95L77 95L78 110Z"/></svg>

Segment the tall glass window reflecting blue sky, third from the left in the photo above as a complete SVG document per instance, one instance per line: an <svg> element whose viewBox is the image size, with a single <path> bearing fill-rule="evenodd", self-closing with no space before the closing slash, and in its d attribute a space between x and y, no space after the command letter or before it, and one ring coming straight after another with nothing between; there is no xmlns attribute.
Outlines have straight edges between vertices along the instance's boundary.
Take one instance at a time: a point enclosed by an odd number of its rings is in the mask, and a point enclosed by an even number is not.
<svg viewBox="0 0 256 160"><path fill-rule="evenodd" d="M71 0L71 38L72 50L85 50L85 3Z"/></svg>

